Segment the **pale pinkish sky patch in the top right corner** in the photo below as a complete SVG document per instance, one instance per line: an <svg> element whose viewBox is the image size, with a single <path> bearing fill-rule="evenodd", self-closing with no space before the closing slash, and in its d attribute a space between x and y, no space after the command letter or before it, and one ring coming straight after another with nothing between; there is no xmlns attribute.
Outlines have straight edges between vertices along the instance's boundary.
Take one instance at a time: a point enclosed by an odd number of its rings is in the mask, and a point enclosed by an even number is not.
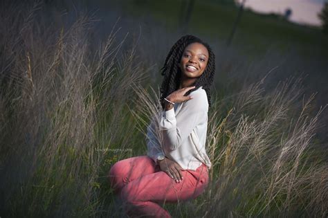
<svg viewBox="0 0 328 218"><path fill-rule="evenodd" d="M242 0L238 0L239 2ZM246 0L245 8L254 11L284 14L286 8L291 8L290 20L300 24L320 26L318 13L328 0Z"/></svg>

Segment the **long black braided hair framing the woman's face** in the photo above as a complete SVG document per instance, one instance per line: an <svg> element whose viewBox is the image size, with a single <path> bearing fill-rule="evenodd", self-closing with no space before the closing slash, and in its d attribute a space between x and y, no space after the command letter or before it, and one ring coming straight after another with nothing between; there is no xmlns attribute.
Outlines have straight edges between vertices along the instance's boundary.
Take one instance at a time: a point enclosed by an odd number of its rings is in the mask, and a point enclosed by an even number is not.
<svg viewBox="0 0 328 218"><path fill-rule="evenodd" d="M165 59L165 64L161 69L161 74L164 76L161 85L161 105L163 109L165 107L163 101L164 98L179 88L179 84L181 82L181 69L179 68L179 64L183 55L183 51L185 50L185 47L194 42L203 44L203 46L208 49L209 57L206 69L204 70L203 74L201 74L201 76L197 78L194 84L191 85L195 88L185 93L185 96L188 96L192 91L198 89L199 87L203 87L208 97L208 105L209 107L211 106L210 87L213 83L215 74L215 54L213 53L212 48L210 48L206 42L201 41L201 39L193 35L185 35L172 46Z"/></svg>

